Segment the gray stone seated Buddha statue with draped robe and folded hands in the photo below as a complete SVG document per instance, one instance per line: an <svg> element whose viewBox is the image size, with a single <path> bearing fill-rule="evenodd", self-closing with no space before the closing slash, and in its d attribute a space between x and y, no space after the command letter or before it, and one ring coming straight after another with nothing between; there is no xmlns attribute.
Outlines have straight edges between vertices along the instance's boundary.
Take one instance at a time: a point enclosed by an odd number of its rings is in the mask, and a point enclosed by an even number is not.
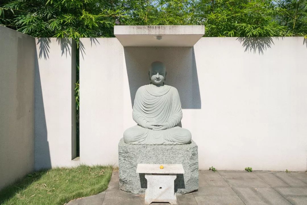
<svg viewBox="0 0 307 205"><path fill-rule="evenodd" d="M164 83L165 65L153 62L148 74L150 84L141 86L134 99L132 117L137 125L126 129L124 142L149 145L191 143L191 132L177 126L182 118L181 102L177 89Z"/></svg>

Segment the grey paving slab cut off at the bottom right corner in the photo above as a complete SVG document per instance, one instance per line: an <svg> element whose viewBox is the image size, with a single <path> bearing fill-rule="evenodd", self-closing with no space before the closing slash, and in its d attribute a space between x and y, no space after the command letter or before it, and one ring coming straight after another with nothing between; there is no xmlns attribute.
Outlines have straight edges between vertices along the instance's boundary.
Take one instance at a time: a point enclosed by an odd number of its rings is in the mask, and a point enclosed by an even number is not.
<svg viewBox="0 0 307 205"><path fill-rule="evenodd" d="M293 205L307 204L307 187L274 187L274 189Z"/></svg>

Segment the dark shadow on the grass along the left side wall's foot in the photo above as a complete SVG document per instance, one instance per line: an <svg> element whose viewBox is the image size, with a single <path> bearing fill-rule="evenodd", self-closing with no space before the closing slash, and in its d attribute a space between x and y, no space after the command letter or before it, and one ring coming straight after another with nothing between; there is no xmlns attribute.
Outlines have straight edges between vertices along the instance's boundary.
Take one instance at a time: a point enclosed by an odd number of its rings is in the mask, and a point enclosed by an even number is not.
<svg viewBox="0 0 307 205"><path fill-rule="evenodd" d="M32 183L41 179L41 177L46 174L49 169L32 172L21 179L17 179L17 181L11 185L4 187L0 191L0 204L12 198L14 195L18 194L19 191L26 189Z"/></svg>

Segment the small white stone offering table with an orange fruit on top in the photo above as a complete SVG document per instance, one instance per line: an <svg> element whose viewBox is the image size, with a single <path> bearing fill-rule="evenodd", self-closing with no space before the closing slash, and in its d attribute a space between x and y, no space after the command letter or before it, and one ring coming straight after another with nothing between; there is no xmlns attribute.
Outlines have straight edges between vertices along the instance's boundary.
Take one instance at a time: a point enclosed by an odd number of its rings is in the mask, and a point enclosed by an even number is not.
<svg viewBox="0 0 307 205"><path fill-rule="evenodd" d="M136 172L144 173L147 179L145 203L169 202L177 204L174 180L177 178L177 174L185 173L182 164L138 164Z"/></svg>

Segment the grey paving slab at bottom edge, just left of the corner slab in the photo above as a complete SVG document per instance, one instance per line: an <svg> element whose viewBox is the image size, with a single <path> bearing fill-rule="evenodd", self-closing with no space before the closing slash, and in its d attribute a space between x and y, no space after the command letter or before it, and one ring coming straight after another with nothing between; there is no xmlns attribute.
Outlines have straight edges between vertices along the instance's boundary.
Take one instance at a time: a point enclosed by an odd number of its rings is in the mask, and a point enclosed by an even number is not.
<svg viewBox="0 0 307 205"><path fill-rule="evenodd" d="M291 205L271 187L232 187L246 205Z"/></svg>

